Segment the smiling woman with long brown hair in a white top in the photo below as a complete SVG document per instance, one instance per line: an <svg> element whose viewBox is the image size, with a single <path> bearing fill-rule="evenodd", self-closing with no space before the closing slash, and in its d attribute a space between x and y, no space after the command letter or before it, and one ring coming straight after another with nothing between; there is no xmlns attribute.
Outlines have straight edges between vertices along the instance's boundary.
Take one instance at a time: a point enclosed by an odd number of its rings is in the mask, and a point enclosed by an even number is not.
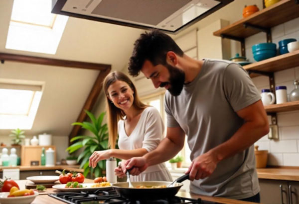
<svg viewBox="0 0 299 204"><path fill-rule="evenodd" d="M110 157L123 159L124 164L126 159L143 156L156 148L163 138L162 119L155 108L140 101L130 78L122 72L114 71L105 78L104 91L111 149L94 151L89 158L89 165L96 167L100 160ZM120 149L115 149L118 135ZM125 176L121 166L115 169L115 173L121 178ZM143 174L130 178L132 181L172 180L164 163L152 166Z"/></svg>

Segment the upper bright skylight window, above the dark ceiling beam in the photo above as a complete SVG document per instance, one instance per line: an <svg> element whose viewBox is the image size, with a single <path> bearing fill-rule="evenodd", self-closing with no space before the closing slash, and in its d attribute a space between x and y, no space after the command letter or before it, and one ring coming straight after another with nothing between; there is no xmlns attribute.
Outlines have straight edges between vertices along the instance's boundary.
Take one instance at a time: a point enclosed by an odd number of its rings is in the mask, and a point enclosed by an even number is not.
<svg viewBox="0 0 299 204"><path fill-rule="evenodd" d="M51 0L14 0L6 49L55 54L68 16L51 13Z"/></svg>

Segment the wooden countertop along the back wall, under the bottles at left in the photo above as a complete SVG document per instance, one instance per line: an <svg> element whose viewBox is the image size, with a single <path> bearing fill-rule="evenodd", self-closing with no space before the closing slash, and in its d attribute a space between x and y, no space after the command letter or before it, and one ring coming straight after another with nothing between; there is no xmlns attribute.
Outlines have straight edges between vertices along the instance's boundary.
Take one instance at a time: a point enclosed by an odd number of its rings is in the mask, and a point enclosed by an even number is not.
<svg viewBox="0 0 299 204"><path fill-rule="evenodd" d="M39 171L39 170L67 170L83 173L83 169L79 169L79 165L56 165L56 166L0 166L2 169L20 169L20 171Z"/></svg>

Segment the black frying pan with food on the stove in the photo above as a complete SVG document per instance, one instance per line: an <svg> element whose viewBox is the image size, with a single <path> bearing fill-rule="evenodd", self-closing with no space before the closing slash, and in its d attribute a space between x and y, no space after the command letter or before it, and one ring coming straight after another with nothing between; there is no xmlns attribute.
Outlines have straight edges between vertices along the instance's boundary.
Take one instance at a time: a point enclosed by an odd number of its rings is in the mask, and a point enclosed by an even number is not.
<svg viewBox="0 0 299 204"><path fill-rule="evenodd" d="M144 182L132 182L133 186L161 186L165 185L166 188L157 189L138 189L129 188L128 182L121 182L112 184L114 190L123 198L131 200L158 200L167 199L173 197L178 190L183 186L181 182L189 179L189 174L184 174L175 180L175 182L168 187L172 182L167 181L144 181ZM177 183L178 182L178 183Z"/></svg>

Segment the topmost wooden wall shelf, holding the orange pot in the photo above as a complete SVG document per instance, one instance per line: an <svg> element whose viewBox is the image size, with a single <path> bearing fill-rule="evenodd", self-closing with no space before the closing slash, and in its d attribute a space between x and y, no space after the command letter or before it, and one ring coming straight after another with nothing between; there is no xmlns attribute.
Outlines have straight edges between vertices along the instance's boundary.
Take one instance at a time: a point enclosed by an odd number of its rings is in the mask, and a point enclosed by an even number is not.
<svg viewBox="0 0 299 204"><path fill-rule="evenodd" d="M296 4L295 0L281 0L272 6L264 8L246 18L215 31L213 35L221 36L224 34L238 38L247 38L261 31L252 28L245 28L244 23L264 28L272 28L298 17L299 4Z"/></svg>

